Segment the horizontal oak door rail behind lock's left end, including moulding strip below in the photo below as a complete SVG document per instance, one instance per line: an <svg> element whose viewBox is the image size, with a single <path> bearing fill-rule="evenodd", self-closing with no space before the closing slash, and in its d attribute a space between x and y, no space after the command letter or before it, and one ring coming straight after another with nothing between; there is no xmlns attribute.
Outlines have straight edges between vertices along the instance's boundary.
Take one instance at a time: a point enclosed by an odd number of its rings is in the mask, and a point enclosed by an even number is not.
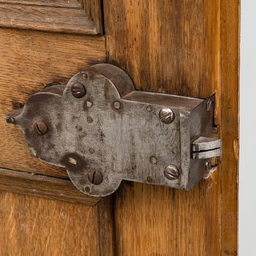
<svg viewBox="0 0 256 256"><path fill-rule="evenodd" d="M23 132L4 123L4 116L20 108L31 94L47 84L66 84L75 73L104 62L105 38L1 28L0 54L1 189L90 205L97 203L99 198L86 197L71 184L66 170L35 158ZM56 178L49 181L48 176Z"/></svg>

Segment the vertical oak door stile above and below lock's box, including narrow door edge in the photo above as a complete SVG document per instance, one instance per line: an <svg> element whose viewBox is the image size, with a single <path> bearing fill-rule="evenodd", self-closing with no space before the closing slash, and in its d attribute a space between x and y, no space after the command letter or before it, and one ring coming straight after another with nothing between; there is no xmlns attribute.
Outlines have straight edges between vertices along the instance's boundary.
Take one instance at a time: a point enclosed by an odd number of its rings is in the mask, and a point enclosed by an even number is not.
<svg viewBox="0 0 256 256"><path fill-rule="evenodd" d="M225 130L225 166L192 191L123 183L115 203L118 255L236 255L237 187L232 182L237 159L230 153L230 143L235 141L237 148L238 141L231 138L237 138L238 80L235 75L228 81L230 86L235 83L230 92L222 73L228 77L238 73L238 1L233 2L233 12L229 8L229 1L203 0L111 0L104 5L108 62L125 69L142 91L190 97L215 93L215 123ZM226 16L232 29L226 24L223 30ZM233 37L227 36L228 29ZM221 48L224 37L236 42L228 54L227 45ZM223 105L224 101L228 103ZM231 105L236 105L232 114ZM233 233L231 238L228 233Z"/></svg>

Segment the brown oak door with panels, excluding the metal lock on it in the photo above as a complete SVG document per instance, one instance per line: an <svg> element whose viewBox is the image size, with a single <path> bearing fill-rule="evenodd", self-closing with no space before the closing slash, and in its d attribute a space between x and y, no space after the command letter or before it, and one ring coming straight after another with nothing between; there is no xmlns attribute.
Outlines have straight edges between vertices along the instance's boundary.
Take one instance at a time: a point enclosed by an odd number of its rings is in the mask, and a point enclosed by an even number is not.
<svg viewBox="0 0 256 256"><path fill-rule="evenodd" d="M0 255L237 255L239 1L0 0ZM189 192L78 192L4 116L92 64L140 91L216 94L219 167Z"/></svg>

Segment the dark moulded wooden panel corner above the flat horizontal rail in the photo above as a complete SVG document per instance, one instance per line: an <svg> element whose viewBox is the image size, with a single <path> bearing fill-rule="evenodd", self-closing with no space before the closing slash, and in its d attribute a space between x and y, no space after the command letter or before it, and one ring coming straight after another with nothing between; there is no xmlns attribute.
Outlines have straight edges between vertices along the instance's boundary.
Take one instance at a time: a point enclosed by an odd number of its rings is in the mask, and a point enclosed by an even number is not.
<svg viewBox="0 0 256 256"><path fill-rule="evenodd" d="M82 4L81 4L82 3ZM18 29L67 32L75 34L102 34L100 0L0 1L0 26ZM78 7L80 4L80 7Z"/></svg>

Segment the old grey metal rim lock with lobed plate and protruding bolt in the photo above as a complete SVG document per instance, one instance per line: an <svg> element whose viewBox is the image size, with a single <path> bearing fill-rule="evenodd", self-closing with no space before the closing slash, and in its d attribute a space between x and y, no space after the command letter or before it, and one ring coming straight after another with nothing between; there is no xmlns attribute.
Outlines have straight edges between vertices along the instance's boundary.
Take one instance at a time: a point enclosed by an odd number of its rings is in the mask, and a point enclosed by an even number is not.
<svg viewBox="0 0 256 256"><path fill-rule="evenodd" d="M46 87L6 121L18 124L36 157L65 167L75 187L96 197L122 180L191 189L221 155L212 135L214 97L135 91L110 64Z"/></svg>

